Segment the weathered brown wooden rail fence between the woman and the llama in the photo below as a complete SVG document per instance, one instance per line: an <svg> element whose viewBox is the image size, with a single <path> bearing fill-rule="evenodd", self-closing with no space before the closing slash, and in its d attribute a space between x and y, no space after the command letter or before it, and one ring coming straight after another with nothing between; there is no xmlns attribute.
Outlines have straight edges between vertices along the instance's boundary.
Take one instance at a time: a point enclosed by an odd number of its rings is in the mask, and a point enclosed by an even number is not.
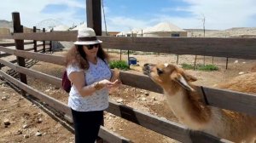
<svg viewBox="0 0 256 143"><path fill-rule="evenodd" d="M17 13L13 13L14 15ZM15 20L14 20L15 21ZM14 33L13 35L0 35L0 38L15 39L16 49L9 49L0 46L0 51L7 54L13 54L20 57L20 61L26 59L40 60L63 66L64 58L58 55L41 54L31 51L19 49L19 43L23 40L37 41L75 41L77 31L55 31L41 33ZM104 43L102 46L106 49L122 49L134 51L160 52L170 54L197 54L218 57L232 57L241 59L256 59L256 39L255 38L201 38L201 37L98 37ZM24 45L23 45L24 46ZM28 94L45 102L47 105L62 112L67 117L71 117L70 108L64 103L53 99L37 89L32 89L26 84L26 76L36 77L44 82L51 83L57 87L61 87L61 78L53 77L42 72L33 71L24 67L24 63L20 62L19 66L8 61L0 60L0 63L9 66L20 74L23 78L20 81L9 76L3 71L0 74L14 83L20 89ZM136 87L139 89L147 89L157 93L162 93L162 89L156 85L149 77L143 74L134 74L131 72L121 72L121 81L125 85ZM136 79L136 80L134 80ZM241 92L230 91L226 89L212 89L208 87L198 87L202 97L205 97L209 106L216 106L236 112L245 112L256 116L256 96L255 94L245 94ZM229 103L229 104L227 104ZM115 102L109 102L107 112L116 116L125 118L132 123L137 123L147 129L151 129L159 134L164 134L174 140L181 142L229 142L229 140L218 139L211 134L203 132L190 131L185 126L156 117L154 115L140 112L131 107L120 105ZM100 137L109 142L131 142L119 134L115 134L104 127L100 130Z"/></svg>

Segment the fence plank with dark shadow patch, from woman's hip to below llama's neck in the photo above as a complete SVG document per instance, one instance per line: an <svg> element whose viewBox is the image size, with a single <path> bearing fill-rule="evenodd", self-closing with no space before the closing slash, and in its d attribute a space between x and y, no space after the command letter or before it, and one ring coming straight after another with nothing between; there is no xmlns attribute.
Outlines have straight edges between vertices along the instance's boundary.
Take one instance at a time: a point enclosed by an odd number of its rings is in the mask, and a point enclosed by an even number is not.
<svg viewBox="0 0 256 143"><path fill-rule="evenodd" d="M218 139L211 134L190 131L181 124L156 117L146 112L139 112L131 107L113 103L111 101L109 101L107 112L113 113L116 116L125 118L128 121L137 123L147 129L151 129L181 142L203 143L206 140L209 143L227 142L227 140Z"/></svg>

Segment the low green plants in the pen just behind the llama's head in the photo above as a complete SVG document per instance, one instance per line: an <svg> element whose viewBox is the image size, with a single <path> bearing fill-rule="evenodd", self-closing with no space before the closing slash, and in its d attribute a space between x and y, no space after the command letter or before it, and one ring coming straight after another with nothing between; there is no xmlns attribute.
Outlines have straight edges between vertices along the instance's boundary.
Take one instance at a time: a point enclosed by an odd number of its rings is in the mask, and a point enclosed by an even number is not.
<svg viewBox="0 0 256 143"><path fill-rule="evenodd" d="M182 67L183 67L183 69L187 69L187 70L194 69L193 65L184 64L184 63L182 64ZM209 72L209 71L218 71L218 66L198 64L198 65L195 65L195 70L207 71L207 72Z"/></svg>

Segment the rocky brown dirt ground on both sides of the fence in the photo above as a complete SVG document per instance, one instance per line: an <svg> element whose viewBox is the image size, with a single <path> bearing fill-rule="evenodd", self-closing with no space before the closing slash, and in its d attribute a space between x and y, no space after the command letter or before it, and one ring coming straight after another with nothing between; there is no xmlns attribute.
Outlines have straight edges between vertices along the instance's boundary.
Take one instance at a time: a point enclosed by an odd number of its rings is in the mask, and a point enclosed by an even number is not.
<svg viewBox="0 0 256 143"><path fill-rule="evenodd" d="M54 54L63 53L65 51L55 52ZM119 54L112 53L110 55L112 60L119 60ZM137 58L137 66L131 66L131 71L134 72L141 72L144 63L177 63L177 55L175 54L131 54L130 56ZM122 54L122 59L126 60L127 54ZM193 64L195 55L179 55L178 59L178 64ZM198 56L196 63L203 63L203 59L203 56ZM212 64L212 57L205 57L205 59L206 64ZM228 70L225 69L225 58L214 57L213 62L219 67L219 70L216 72L188 70L190 74L198 78L195 84L214 87L218 83L230 80L232 77L251 72L256 67L256 60L229 59ZM56 66L45 62L36 62L31 68L55 77L61 77L61 72L64 69L63 66ZM5 67L5 70L8 70L8 68ZM57 100L67 103L68 94L62 89L55 88L49 83L44 83L32 77L28 77L28 84ZM1 143L73 142L73 134L62 123L56 122L39 106L26 100L26 98L18 94L14 89L11 89L4 81L1 83L0 92ZM178 122L171 110L166 106L166 98L162 94L122 85L118 90L111 92L110 100L131 106L142 112L149 112L153 115ZM177 142L108 112L105 113L105 126L113 132L137 143Z"/></svg>

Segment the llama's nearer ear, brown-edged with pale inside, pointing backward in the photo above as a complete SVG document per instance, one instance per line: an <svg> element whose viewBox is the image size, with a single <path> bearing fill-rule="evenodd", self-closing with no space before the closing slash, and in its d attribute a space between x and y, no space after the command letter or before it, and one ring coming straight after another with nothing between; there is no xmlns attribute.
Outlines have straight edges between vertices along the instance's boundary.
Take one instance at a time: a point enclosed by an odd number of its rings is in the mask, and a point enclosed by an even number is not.
<svg viewBox="0 0 256 143"><path fill-rule="evenodd" d="M184 89L187 89L189 91L195 91L195 89L191 88L189 83L185 80L182 74L177 73L177 72L172 72L171 74L172 80L176 81L179 83Z"/></svg>

